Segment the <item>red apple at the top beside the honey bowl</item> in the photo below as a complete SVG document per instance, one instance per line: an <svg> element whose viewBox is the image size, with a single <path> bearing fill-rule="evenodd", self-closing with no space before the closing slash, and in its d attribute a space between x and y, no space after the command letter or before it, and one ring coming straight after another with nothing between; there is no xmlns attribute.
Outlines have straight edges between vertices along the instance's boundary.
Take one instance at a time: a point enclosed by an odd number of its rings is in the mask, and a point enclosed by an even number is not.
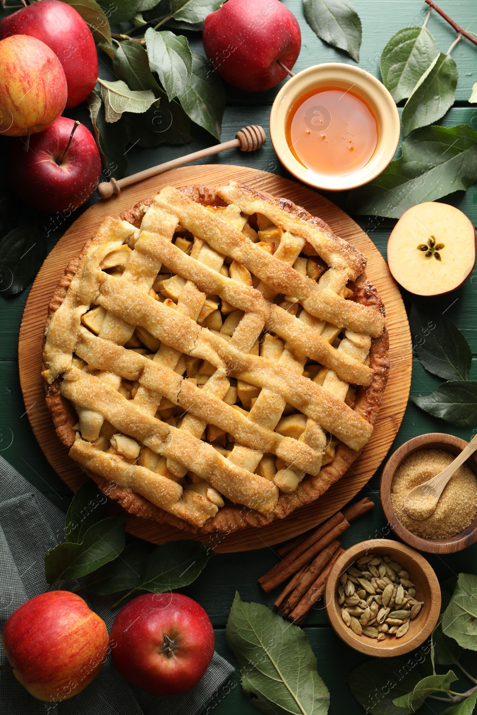
<svg viewBox="0 0 477 715"><path fill-rule="evenodd" d="M285 79L300 54L295 15L278 0L228 0L207 15L202 33L212 66L239 89L262 92Z"/></svg>

